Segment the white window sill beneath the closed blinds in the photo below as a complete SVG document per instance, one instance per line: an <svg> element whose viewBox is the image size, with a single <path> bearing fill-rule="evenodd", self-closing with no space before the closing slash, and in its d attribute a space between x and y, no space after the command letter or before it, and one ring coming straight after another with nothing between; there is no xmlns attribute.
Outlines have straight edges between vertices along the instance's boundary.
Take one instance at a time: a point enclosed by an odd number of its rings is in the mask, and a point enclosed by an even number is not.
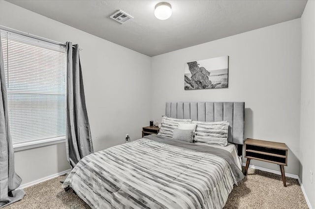
<svg viewBox="0 0 315 209"><path fill-rule="evenodd" d="M37 147L44 147L53 144L59 144L65 142L65 138L54 138L54 139L45 139L40 141L31 141L31 142L22 142L18 144L13 144L14 152L29 150Z"/></svg>

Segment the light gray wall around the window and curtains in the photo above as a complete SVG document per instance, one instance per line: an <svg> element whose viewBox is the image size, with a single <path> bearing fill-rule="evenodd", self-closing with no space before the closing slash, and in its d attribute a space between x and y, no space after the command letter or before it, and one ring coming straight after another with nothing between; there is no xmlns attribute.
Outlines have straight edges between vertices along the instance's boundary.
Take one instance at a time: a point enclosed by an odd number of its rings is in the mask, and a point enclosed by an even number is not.
<svg viewBox="0 0 315 209"><path fill-rule="evenodd" d="M149 124L151 57L0 0L0 25L55 41L78 43L94 149L141 137ZM22 183L69 167L64 143L15 153Z"/></svg>

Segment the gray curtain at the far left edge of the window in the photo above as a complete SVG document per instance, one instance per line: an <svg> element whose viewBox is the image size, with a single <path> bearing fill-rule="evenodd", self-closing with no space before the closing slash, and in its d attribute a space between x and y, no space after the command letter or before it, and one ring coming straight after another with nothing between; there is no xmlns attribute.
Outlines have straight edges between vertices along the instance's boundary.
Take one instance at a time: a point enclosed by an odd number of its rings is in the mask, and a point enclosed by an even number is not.
<svg viewBox="0 0 315 209"><path fill-rule="evenodd" d="M23 190L15 190L22 180L14 171L14 151L9 127L5 71L0 39L0 208L23 198Z"/></svg>

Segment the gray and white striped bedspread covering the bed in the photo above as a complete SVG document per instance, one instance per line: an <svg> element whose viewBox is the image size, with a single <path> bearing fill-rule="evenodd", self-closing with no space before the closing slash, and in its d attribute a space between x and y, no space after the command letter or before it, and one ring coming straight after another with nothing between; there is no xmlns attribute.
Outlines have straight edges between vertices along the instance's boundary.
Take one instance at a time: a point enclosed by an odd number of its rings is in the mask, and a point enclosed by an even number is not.
<svg viewBox="0 0 315 209"><path fill-rule="evenodd" d="M63 188L70 186L95 209L221 209L225 205L237 183L225 159L152 139L84 157Z"/></svg>

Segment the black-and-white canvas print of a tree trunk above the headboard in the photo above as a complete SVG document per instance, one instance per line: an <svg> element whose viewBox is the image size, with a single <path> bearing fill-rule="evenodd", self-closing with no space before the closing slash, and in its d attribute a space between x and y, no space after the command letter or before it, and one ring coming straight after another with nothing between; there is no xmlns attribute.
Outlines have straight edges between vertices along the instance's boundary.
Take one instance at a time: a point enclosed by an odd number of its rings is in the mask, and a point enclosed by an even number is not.
<svg viewBox="0 0 315 209"><path fill-rule="evenodd" d="M227 88L228 56L187 62L184 80L185 90Z"/></svg>

